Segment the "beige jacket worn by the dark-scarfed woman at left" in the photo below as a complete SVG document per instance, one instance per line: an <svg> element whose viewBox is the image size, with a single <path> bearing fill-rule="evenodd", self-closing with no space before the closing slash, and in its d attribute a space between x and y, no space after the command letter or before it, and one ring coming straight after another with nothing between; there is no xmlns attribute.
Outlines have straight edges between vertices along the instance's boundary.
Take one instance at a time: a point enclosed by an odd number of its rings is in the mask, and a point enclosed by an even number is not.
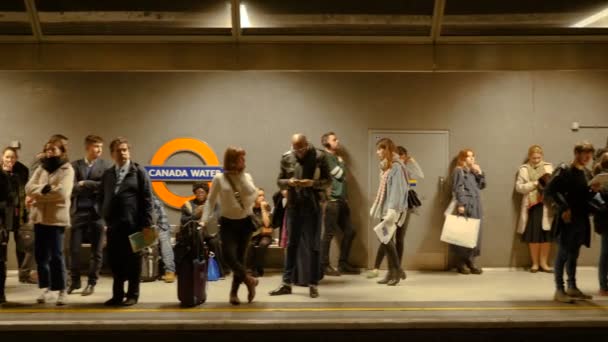
<svg viewBox="0 0 608 342"><path fill-rule="evenodd" d="M45 185L51 191L42 194ZM70 196L74 186L74 169L70 163L63 164L52 174L38 167L25 186L25 193L34 200L30 220L34 224L67 227L70 225Z"/></svg>

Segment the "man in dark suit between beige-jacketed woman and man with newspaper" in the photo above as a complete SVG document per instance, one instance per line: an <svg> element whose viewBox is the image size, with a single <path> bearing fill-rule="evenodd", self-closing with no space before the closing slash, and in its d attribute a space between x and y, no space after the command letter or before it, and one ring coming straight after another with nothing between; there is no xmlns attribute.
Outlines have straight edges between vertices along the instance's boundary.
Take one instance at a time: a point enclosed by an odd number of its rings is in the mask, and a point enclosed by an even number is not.
<svg viewBox="0 0 608 342"><path fill-rule="evenodd" d="M72 207L70 216L72 232L70 237L71 278L68 294L81 288L80 283L80 249L82 237L88 233L91 243L89 275L83 296L92 295L99 278L103 258L104 223L97 205L97 194L101 176L112 164L101 159L103 139L89 135L84 140L86 156L72 162L74 168L74 189L72 190Z"/></svg>

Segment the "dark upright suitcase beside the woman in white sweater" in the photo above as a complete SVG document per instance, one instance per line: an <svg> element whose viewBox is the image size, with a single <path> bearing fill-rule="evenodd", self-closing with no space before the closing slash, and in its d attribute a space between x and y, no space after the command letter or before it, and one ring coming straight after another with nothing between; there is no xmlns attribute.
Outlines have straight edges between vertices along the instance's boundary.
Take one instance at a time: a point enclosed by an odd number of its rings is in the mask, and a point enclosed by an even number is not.
<svg viewBox="0 0 608 342"><path fill-rule="evenodd" d="M193 307L207 300L209 252L198 222L182 227L176 247L177 297L182 306Z"/></svg>

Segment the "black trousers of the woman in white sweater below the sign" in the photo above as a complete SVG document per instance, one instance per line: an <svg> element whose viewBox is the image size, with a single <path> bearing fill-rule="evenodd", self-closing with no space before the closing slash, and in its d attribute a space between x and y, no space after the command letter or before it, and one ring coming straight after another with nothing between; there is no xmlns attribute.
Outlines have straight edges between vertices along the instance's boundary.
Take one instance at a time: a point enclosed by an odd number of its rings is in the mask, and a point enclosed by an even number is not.
<svg viewBox="0 0 608 342"><path fill-rule="evenodd" d="M232 269L232 291L237 291L247 277L245 255L253 232L251 219L231 220L220 218L222 252L226 264Z"/></svg>

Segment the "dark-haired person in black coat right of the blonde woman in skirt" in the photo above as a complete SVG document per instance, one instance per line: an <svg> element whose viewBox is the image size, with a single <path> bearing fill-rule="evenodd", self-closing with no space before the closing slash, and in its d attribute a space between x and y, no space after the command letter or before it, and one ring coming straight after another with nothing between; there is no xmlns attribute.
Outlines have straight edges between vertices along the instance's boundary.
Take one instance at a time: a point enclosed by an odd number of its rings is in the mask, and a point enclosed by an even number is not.
<svg viewBox="0 0 608 342"><path fill-rule="evenodd" d="M581 246L589 247L591 222L589 201L599 190L599 184L588 185L591 172L587 164L593 158L595 149L589 143L579 143L574 147L574 161L571 165L561 165L553 174L545 189L556 209L553 221L557 235L558 252L555 260L555 296L558 302L572 303L577 299L591 299L576 285L576 263ZM568 273L568 289L564 286L564 267Z"/></svg>

